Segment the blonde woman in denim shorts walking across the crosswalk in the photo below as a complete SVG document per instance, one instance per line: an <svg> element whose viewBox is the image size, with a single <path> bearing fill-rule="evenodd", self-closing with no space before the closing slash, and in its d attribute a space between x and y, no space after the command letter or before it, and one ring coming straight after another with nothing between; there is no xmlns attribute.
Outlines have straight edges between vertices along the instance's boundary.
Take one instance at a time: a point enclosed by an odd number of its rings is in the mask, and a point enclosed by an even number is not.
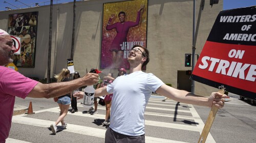
<svg viewBox="0 0 256 143"><path fill-rule="evenodd" d="M70 76L70 71L68 69L62 69L61 72L58 75L55 75L54 77L57 79L57 82L65 82L65 81L70 81L69 76ZM57 125L59 124L59 122L61 122L60 128L67 127L67 124L64 123L64 118L67 115L69 106L71 104L71 95L72 95L72 92L58 97L57 103L60 108L60 113L57 121L50 126L53 134L56 134Z"/></svg>

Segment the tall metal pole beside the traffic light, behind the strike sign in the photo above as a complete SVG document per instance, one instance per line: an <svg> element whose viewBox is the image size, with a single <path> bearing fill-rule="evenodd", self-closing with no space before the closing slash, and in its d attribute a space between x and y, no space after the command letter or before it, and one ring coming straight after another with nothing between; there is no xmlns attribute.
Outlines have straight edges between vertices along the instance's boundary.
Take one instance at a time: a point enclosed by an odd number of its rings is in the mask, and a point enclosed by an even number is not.
<svg viewBox="0 0 256 143"><path fill-rule="evenodd" d="M204 1L205 0L201 0L200 3L200 9L199 9L199 13L198 13L198 19L197 19L197 27L196 27L196 31L194 34L194 26L193 26L193 45L192 45L192 71L195 68L195 52L196 52L196 43L197 43L197 34L198 34L198 29L199 29L199 24L200 24L200 19L201 19L201 14L202 11L204 9ZM196 17L195 15L195 0L194 0L194 17ZM195 18L193 18L193 20L195 20ZM193 21L193 25L194 25L194 21ZM191 93L195 93L195 81L192 80L191 81Z"/></svg>

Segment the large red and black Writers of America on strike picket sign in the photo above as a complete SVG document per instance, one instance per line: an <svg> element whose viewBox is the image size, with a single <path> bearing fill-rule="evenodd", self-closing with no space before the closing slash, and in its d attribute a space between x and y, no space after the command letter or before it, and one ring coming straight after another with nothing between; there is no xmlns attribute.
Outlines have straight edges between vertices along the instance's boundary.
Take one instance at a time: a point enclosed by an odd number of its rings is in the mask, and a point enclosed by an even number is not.
<svg viewBox="0 0 256 143"><path fill-rule="evenodd" d="M211 29L192 80L256 99L256 8L221 11Z"/></svg>

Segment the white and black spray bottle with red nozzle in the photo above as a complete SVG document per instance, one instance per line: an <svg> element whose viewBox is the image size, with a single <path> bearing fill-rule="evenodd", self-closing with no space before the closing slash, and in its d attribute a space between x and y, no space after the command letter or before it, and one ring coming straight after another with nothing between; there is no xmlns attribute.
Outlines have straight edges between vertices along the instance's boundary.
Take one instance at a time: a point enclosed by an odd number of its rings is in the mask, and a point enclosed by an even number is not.
<svg viewBox="0 0 256 143"><path fill-rule="evenodd" d="M90 73L98 74L98 73L101 73L101 71L98 71L97 69L93 69L90 71ZM93 88L93 85L89 85L83 91L84 91L84 95L83 95L82 106L89 110L93 106L95 89Z"/></svg>

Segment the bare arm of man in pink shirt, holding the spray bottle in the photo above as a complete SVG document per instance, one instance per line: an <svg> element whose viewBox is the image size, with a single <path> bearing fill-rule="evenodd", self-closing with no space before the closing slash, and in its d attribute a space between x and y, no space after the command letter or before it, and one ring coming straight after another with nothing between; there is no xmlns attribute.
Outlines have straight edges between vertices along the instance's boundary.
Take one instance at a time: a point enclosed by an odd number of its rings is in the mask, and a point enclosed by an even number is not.
<svg viewBox="0 0 256 143"><path fill-rule="evenodd" d="M67 82L57 82L50 84L37 83L34 89L28 94L28 97L33 98L52 98L68 94L75 89L84 85L92 85L98 82L98 74L88 73L82 78Z"/></svg>

